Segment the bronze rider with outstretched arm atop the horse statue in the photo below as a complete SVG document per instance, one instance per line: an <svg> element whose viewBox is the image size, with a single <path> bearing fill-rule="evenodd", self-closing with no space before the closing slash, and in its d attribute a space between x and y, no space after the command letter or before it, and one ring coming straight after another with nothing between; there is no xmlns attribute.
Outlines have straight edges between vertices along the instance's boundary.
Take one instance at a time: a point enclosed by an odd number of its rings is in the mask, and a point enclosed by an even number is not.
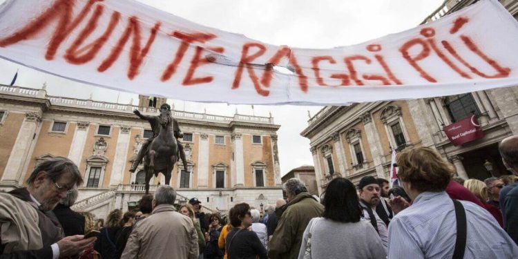
<svg viewBox="0 0 518 259"><path fill-rule="evenodd" d="M171 106L169 106L169 104L162 104L162 106L160 106L160 111L171 111ZM131 169L129 170L131 173L135 173L135 171L137 170L137 166L142 161L142 158L144 157L144 155L146 155L146 153L148 152L149 144L151 144L151 142L153 142L155 137L157 137L157 135L160 133L160 116L142 115L142 114L140 114L140 111L138 111L138 110L133 111L133 113L135 113L135 115L140 117L140 119L146 119L149 122L149 124L151 124L151 130L153 131L153 137L149 137L142 144L142 147L140 148L140 151L137 155L137 159L135 159L135 161L131 165ZM185 160L184 146L178 140L178 138L183 137L184 133L182 133L182 131L180 131L180 127L178 126L178 122L176 121L176 119L173 117L171 117L171 118L173 119L173 131L174 131L175 138L177 139L176 142L178 143L178 151L180 153L180 157L182 157L182 162L184 163L184 165L186 165L187 161Z"/></svg>

